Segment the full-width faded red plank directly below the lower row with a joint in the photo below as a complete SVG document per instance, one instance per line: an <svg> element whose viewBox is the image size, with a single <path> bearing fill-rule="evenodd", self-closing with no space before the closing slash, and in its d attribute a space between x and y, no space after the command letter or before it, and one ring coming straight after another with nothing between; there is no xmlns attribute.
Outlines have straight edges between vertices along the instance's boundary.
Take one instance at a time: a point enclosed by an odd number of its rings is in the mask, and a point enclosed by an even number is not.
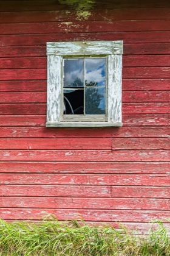
<svg viewBox="0 0 170 256"><path fill-rule="evenodd" d="M108 210L170 210L170 199L91 197L1 197L0 207Z"/></svg>

